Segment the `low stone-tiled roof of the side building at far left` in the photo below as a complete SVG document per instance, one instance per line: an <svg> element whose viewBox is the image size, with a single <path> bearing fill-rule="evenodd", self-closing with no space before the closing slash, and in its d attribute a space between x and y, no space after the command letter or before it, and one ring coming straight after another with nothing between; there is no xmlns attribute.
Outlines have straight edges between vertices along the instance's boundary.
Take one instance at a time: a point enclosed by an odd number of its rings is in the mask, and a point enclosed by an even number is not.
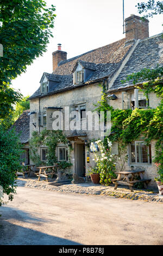
<svg viewBox="0 0 163 256"><path fill-rule="evenodd" d="M22 144L29 142L29 110L23 111L10 129L14 128L17 135L20 135Z"/></svg>

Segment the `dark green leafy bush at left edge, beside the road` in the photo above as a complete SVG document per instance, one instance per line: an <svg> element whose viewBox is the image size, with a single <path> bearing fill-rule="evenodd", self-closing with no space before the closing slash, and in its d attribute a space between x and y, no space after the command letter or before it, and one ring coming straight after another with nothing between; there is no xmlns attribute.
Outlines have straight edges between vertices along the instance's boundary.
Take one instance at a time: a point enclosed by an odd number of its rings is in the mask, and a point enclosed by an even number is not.
<svg viewBox="0 0 163 256"><path fill-rule="evenodd" d="M7 131L3 125L0 126L0 190L7 194L12 200L16 193L16 172L21 170L20 155L22 145L14 131ZM0 191L1 192L1 191ZM0 206L4 203L0 195Z"/></svg>

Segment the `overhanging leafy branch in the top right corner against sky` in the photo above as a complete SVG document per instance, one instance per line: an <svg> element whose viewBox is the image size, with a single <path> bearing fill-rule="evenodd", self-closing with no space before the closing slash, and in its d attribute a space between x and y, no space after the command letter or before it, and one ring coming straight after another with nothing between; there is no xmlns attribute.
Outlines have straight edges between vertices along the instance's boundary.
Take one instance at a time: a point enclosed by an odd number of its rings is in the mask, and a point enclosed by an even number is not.
<svg viewBox="0 0 163 256"><path fill-rule="evenodd" d="M163 3L162 1L149 0L147 3L141 2L136 5L139 14L147 13L144 17L153 17L156 14L163 13Z"/></svg>

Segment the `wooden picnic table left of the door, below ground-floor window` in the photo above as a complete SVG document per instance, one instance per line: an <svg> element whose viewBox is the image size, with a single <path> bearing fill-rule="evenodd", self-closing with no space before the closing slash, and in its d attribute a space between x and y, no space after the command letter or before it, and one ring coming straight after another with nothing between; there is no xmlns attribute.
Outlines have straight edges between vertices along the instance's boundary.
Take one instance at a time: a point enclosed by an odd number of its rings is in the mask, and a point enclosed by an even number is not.
<svg viewBox="0 0 163 256"><path fill-rule="evenodd" d="M35 174L39 177L38 178L39 181L41 177L45 177L46 181L48 182L48 175L51 175L51 178L53 178L53 175L57 171L58 167L59 167L58 164L55 164L54 166L36 167L37 169L39 169L39 173L35 173ZM51 171L49 172L48 169L51 169Z"/></svg>

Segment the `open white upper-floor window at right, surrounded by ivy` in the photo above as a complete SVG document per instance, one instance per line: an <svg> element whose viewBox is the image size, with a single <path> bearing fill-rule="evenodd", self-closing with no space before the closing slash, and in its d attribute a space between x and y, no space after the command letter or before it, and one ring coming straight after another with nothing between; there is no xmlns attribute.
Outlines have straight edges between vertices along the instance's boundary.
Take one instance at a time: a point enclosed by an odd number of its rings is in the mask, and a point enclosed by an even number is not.
<svg viewBox="0 0 163 256"><path fill-rule="evenodd" d="M131 94L132 93L126 93L126 92L122 92L122 109L130 109L131 108ZM124 108L124 97L125 95L128 96L128 108ZM134 89L134 101L135 101L135 108L147 108L148 107L148 100L146 99L146 107L141 107L139 106L139 89Z"/></svg>

